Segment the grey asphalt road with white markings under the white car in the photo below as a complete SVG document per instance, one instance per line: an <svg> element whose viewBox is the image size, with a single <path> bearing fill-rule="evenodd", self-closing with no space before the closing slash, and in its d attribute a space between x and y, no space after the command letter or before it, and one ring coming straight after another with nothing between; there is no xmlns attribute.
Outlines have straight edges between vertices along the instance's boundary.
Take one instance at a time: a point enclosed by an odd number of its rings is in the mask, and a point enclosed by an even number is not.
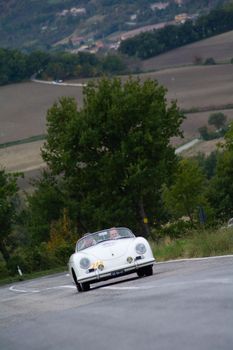
<svg viewBox="0 0 233 350"><path fill-rule="evenodd" d="M0 288L0 349L232 350L233 257L154 266L78 293L58 274Z"/></svg>

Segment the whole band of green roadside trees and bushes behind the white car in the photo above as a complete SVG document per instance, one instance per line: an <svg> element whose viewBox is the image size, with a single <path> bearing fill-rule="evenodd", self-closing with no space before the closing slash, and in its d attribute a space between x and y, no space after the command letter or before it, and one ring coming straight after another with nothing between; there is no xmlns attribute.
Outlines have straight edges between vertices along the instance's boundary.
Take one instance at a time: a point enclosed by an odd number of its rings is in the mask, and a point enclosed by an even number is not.
<svg viewBox="0 0 233 350"><path fill-rule="evenodd" d="M170 143L184 115L157 81L102 78L83 107L63 97L47 112L47 168L22 199L21 174L0 171L0 276L65 265L85 232L126 226L159 239L184 216L221 225L233 212L233 125L221 150L182 159ZM201 220L200 220L201 217ZM184 232L168 231L180 236Z"/></svg>

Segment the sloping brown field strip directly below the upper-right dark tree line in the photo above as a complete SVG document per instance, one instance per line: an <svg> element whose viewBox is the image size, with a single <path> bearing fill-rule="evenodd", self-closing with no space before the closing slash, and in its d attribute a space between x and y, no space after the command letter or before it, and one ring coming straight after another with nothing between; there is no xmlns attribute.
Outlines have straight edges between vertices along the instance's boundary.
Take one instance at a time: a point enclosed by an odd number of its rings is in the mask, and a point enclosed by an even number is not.
<svg viewBox="0 0 233 350"><path fill-rule="evenodd" d="M143 61L145 71L152 71L167 67L194 64L195 58L203 61L213 57L216 62L230 62L233 58L233 31L216 35L193 44L169 51L157 57Z"/></svg>

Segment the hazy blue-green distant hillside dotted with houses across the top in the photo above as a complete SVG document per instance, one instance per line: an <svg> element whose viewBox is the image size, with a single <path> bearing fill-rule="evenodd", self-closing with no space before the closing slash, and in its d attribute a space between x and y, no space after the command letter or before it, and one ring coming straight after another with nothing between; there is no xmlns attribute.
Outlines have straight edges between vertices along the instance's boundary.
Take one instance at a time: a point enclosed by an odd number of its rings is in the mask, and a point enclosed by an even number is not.
<svg viewBox="0 0 233 350"><path fill-rule="evenodd" d="M168 0L0 0L0 47L79 49L111 35L174 19L179 13L203 13L225 1ZM178 4L179 3L179 4Z"/></svg>

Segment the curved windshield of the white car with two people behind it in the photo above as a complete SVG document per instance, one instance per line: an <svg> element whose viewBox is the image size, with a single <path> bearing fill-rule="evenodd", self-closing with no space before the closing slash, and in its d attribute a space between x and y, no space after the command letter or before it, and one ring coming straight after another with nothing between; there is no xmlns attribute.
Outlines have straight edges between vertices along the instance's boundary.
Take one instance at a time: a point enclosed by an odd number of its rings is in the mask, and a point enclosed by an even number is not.
<svg viewBox="0 0 233 350"><path fill-rule="evenodd" d="M120 238L132 238L135 237L134 234L128 229L124 227L112 227L107 230L98 231L95 233L90 233L82 237L77 242L76 251L80 251L89 247L92 247L98 243L115 240Z"/></svg>

